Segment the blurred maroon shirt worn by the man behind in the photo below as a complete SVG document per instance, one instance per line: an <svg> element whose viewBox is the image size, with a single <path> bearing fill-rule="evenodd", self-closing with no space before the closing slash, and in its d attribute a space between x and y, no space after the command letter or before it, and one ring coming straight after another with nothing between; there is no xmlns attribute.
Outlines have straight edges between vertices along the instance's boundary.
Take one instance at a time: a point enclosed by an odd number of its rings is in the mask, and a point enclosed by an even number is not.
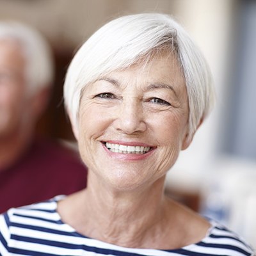
<svg viewBox="0 0 256 256"><path fill-rule="evenodd" d="M87 168L76 152L35 140L22 159L0 170L0 213L86 187Z"/></svg>

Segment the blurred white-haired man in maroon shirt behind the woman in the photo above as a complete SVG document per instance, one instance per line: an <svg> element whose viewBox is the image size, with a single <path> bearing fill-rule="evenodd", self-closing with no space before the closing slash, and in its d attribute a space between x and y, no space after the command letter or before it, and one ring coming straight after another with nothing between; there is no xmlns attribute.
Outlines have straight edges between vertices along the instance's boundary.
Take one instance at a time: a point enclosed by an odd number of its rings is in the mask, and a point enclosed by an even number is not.
<svg viewBox="0 0 256 256"><path fill-rule="evenodd" d="M86 186L76 152L35 136L54 77L51 48L16 22L0 22L0 212Z"/></svg>

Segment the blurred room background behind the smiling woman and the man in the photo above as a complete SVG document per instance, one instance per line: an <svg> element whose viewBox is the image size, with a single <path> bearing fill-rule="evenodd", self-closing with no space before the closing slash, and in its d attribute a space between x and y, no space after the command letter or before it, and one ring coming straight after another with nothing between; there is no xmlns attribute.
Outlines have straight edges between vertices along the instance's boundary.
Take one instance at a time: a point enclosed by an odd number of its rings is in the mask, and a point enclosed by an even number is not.
<svg viewBox="0 0 256 256"><path fill-rule="evenodd" d="M74 140L62 100L68 63L106 21L139 12L173 15L204 52L216 84L216 106L168 173L166 193L256 247L256 1L0 0L0 19L35 26L54 51L54 92L37 132Z"/></svg>

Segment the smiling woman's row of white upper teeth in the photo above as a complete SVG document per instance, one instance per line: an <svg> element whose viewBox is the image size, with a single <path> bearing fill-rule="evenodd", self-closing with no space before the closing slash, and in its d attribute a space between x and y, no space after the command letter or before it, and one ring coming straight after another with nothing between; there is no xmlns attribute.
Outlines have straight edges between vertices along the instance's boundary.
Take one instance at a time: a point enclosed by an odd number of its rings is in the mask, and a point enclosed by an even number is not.
<svg viewBox="0 0 256 256"><path fill-rule="evenodd" d="M126 145L119 145L119 144L112 144L106 143L106 147L115 153L122 153L122 154L145 154L150 150L150 147L143 147L143 146L126 146Z"/></svg>

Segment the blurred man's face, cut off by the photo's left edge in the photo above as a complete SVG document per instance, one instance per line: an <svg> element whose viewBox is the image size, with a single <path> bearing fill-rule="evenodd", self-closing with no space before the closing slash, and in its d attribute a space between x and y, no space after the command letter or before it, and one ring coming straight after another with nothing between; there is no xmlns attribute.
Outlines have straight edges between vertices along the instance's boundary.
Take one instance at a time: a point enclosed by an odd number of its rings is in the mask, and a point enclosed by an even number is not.
<svg viewBox="0 0 256 256"><path fill-rule="evenodd" d="M29 102L25 67L19 44L0 39L0 140L9 138L26 124L24 115Z"/></svg>

